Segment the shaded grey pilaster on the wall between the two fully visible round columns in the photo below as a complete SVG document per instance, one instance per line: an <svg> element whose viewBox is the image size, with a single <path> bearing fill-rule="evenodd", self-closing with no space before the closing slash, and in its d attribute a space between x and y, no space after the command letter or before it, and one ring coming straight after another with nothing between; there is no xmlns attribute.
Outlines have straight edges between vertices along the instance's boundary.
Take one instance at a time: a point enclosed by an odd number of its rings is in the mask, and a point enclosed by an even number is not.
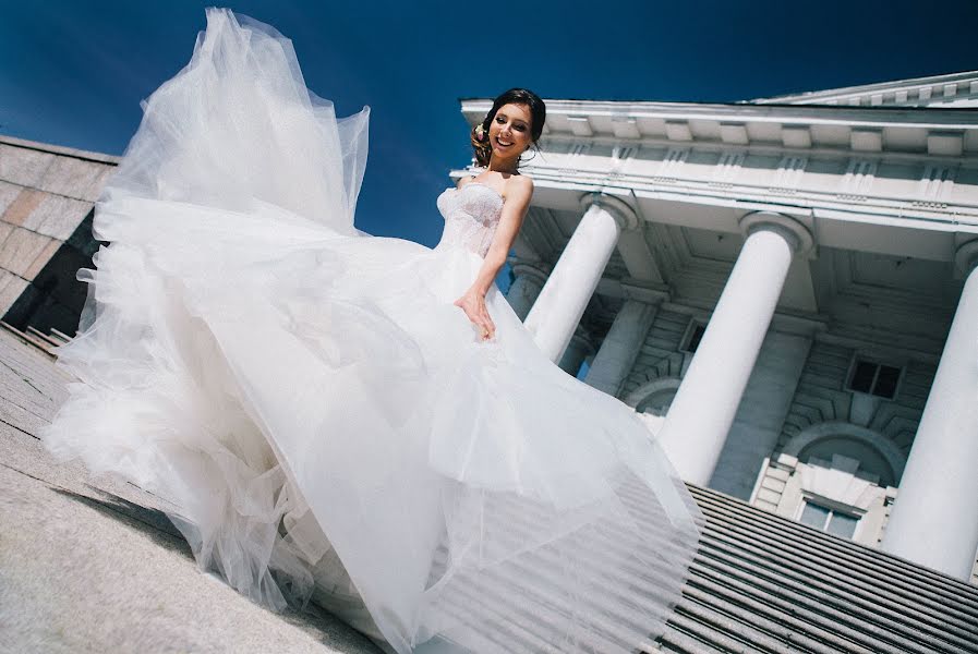
<svg viewBox="0 0 978 654"><path fill-rule="evenodd" d="M626 300L615 322L601 342L584 382L597 390L617 397L621 383L631 372L639 348L659 313L659 306L638 300Z"/></svg>

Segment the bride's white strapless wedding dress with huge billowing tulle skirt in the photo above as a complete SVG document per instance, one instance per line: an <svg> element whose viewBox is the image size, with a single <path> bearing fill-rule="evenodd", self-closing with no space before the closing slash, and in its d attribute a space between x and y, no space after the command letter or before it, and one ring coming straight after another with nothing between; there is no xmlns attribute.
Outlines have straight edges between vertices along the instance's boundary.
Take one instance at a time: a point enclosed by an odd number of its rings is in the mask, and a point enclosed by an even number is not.
<svg viewBox="0 0 978 654"><path fill-rule="evenodd" d="M312 596L400 654L654 639L700 514L635 412L495 287L493 341L452 304L503 197L446 190L435 249L357 230L369 108L337 119L288 39L224 10L144 111L46 446L179 507L240 592Z"/></svg>

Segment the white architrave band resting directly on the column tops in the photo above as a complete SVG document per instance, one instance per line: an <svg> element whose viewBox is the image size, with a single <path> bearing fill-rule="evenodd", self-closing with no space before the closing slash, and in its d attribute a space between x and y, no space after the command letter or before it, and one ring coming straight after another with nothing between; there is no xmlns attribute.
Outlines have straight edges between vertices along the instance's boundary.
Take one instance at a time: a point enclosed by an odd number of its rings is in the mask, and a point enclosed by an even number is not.
<svg viewBox="0 0 978 654"><path fill-rule="evenodd" d="M540 166L526 171L534 180L534 206L557 211L578 213L582 196L604 193L631 204L643 221L723 233L742 232L740 220L751 211L776 211L806 225L816 246L930 261L951 261L961 242L978 238L976 192L968 193L975 198L970 203L950 204L911 194L853 194L846 192L846 174L821 189L792 190L762 182L717 185L708 179L613 177Z"/></svg>

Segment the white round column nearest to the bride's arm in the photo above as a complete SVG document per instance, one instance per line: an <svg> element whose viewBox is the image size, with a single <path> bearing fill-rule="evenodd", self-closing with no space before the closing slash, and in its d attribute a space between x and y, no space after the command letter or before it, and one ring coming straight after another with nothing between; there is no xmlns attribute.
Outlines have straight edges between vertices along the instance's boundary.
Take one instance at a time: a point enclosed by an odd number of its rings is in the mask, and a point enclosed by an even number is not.
<svg viewBox="0 0 978 654"><path fill-rule="evenodd" d="M616 197L595 193L584 196L581 204L587 209L584 216L523 322L555 363L584 315L621 230L638 227L635 211Z"/></svg>

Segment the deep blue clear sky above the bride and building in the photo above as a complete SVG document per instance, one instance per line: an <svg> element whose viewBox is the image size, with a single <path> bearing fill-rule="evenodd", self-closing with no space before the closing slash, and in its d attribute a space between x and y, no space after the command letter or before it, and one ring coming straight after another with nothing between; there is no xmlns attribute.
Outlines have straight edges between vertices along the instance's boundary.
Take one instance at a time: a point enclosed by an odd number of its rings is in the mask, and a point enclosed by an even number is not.
<svg viewBox="0 0 978 654"><path fill-rule="evenodd" d="M0 133L121 154L140 100L190 59L208 3L0 0ZM735 101L978 69L978 2L229 4L293 40L309 86L370 105L357 225L437 242L437 194L471 157L460 97Z"/></svg>

